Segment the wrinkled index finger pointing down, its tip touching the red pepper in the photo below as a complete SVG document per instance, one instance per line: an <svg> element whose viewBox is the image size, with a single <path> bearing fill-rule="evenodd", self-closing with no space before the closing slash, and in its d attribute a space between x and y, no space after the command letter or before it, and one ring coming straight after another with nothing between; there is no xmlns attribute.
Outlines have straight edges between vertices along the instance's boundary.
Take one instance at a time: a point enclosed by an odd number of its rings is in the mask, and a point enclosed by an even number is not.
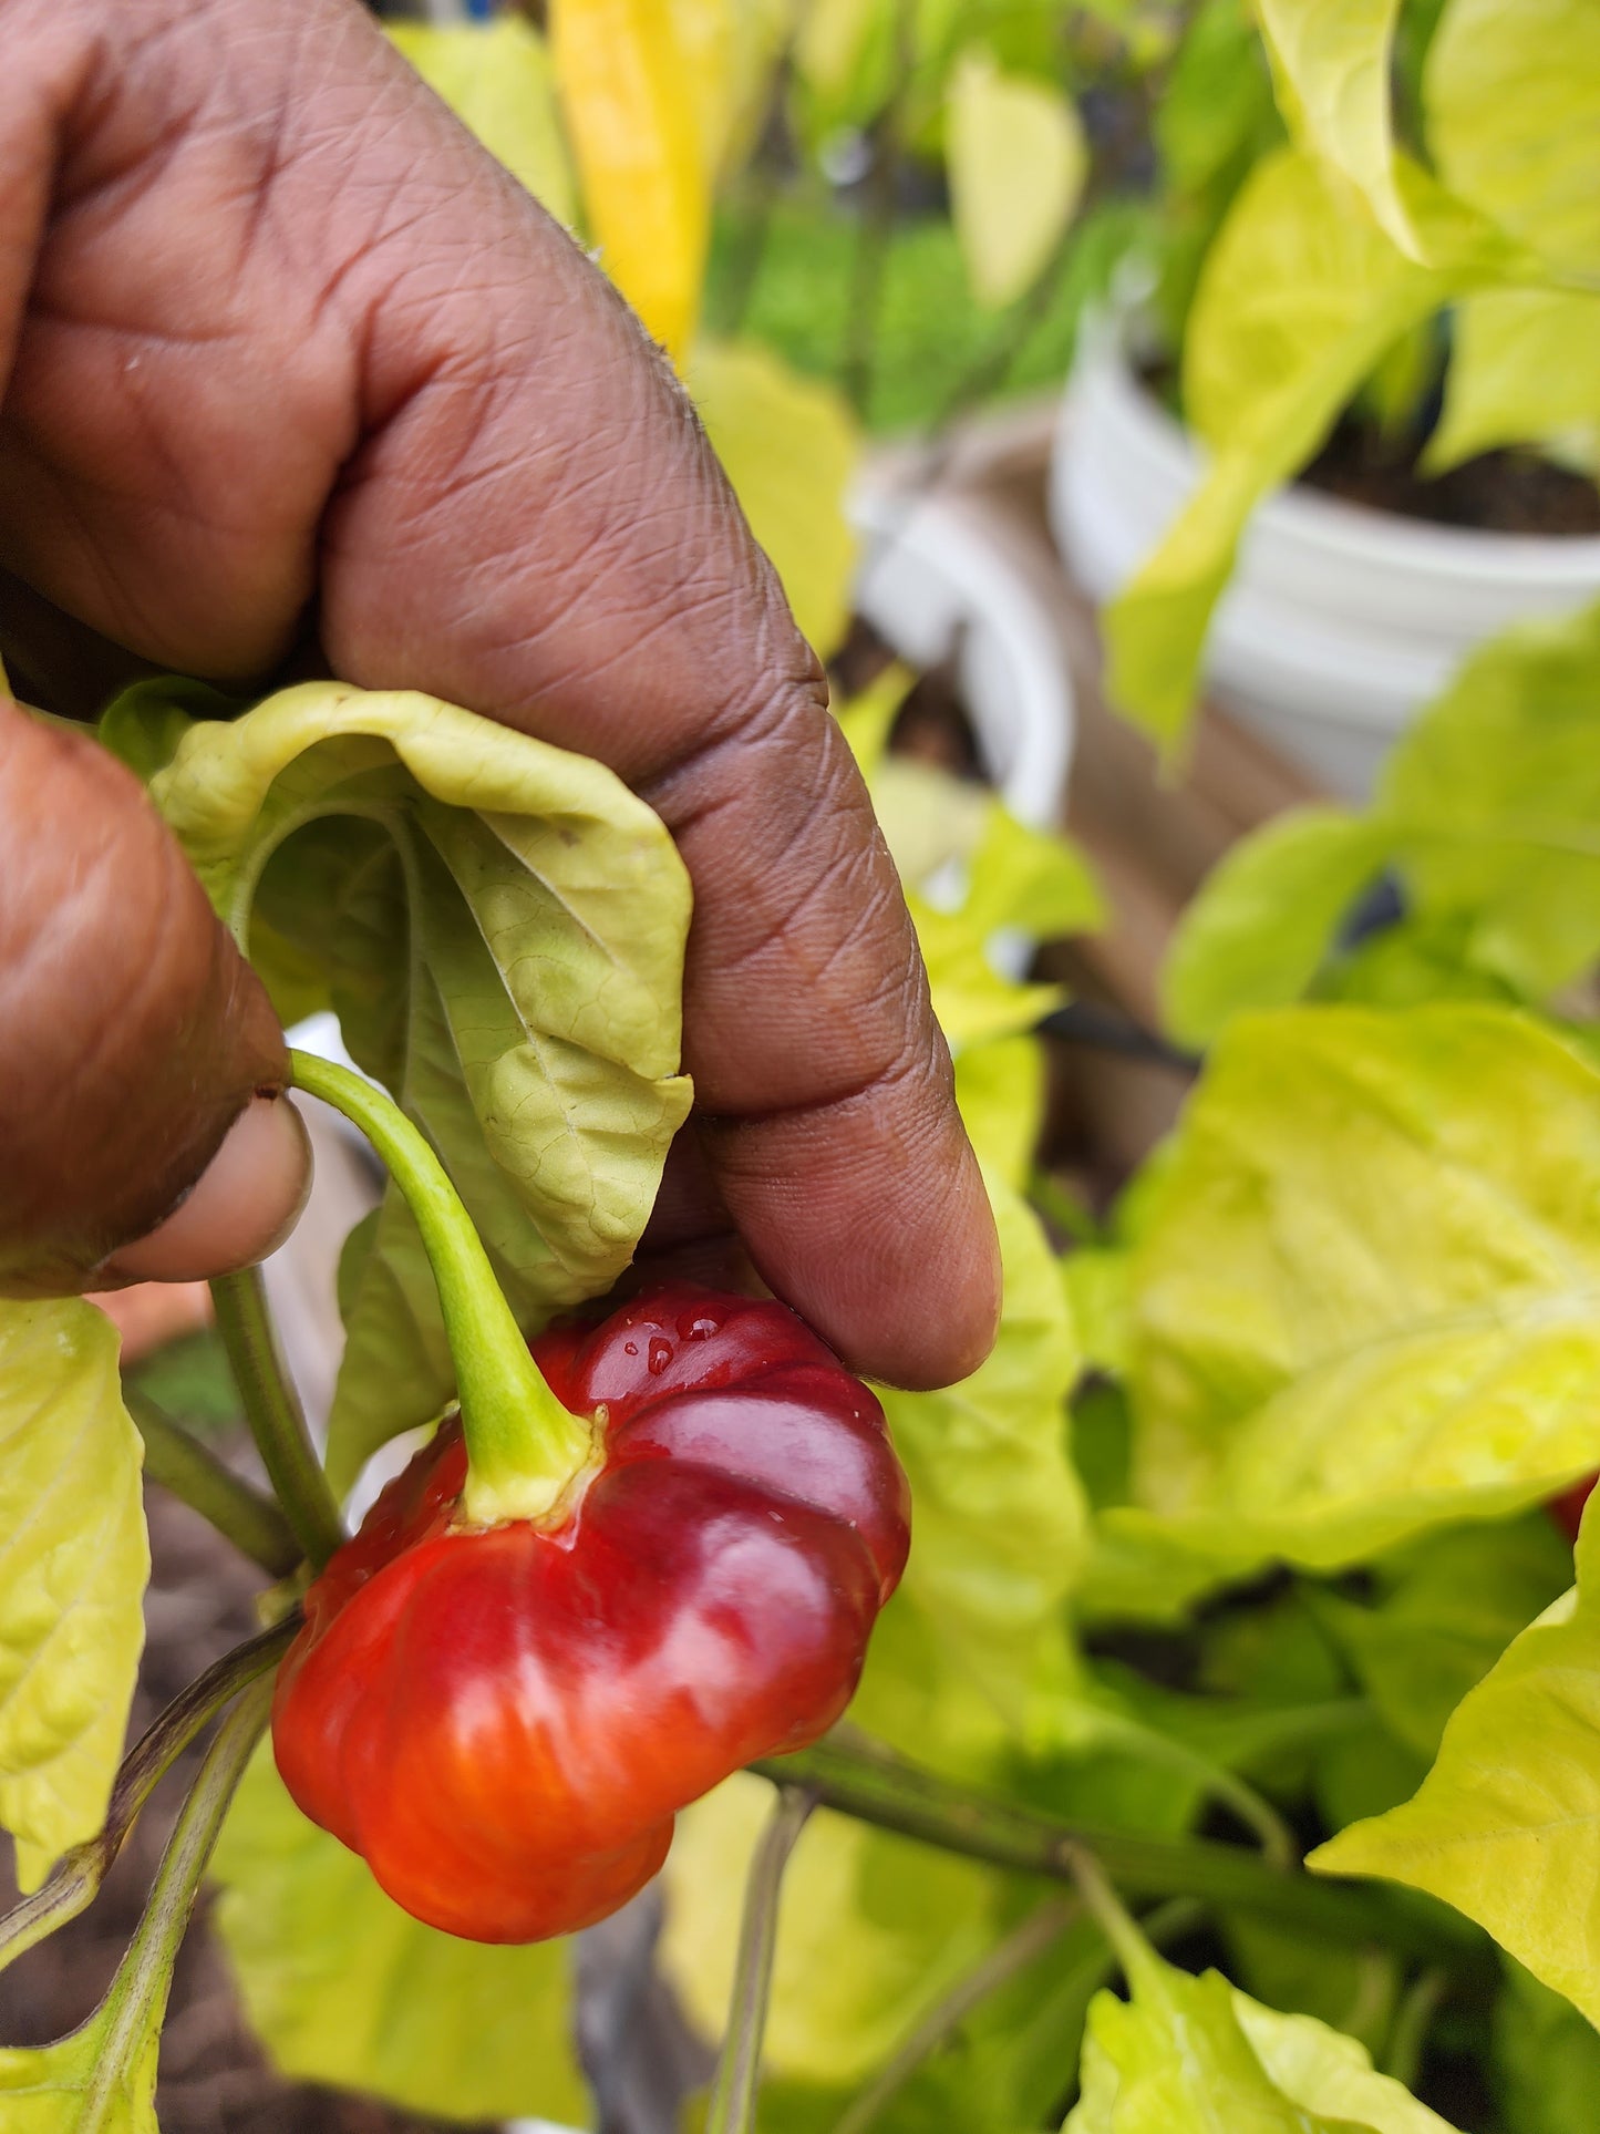
<svg viewBox="0 0 1600 2134"><path fill-rule="evenodd" d="M450 154L437 226L367 269L393 399L329 525L329 651L599 755L657 807L695 886L685 1063L751 1259L858 1368L947 1383L994 1338L994 1225L817 664L631 314Z"/></svg>

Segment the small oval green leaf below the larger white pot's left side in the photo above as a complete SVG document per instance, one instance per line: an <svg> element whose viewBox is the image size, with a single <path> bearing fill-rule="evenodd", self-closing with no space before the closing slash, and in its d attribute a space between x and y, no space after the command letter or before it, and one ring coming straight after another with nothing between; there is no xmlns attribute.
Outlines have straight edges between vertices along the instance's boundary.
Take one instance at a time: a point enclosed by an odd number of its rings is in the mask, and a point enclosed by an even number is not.
<svg viewBox="0 0 1600 2134"><path fill-rule="evenodd" d="M1180 1044L1205 1046L1244 1009L1297 1001L1387 845L1382 824L1335 807L1293 809L1242 839L1167 954L1163 994Z"/></svg>

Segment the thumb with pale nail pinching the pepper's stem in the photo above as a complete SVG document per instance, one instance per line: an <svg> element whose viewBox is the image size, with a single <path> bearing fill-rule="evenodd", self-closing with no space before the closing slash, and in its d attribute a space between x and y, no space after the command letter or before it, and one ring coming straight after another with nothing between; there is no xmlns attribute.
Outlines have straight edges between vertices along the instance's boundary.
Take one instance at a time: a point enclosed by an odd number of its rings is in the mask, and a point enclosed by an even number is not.
<svg viewBox="0 0 1600 2134"><path fill-rule="evenodd" d="M247 1265L305 1197L288 1054L177 841L0 696L0 1293Z"/></svg>

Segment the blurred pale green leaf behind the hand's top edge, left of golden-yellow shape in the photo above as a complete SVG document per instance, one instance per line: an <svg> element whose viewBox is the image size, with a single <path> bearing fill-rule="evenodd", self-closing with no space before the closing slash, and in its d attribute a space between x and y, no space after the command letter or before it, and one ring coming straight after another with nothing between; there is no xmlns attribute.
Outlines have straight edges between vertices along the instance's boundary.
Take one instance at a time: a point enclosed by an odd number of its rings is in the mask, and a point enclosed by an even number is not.
<svg viewBox="0 0 1600 2134"><path fill-rule="evenodd" d="M393 21L388 36L557 222L578 220L550 55L525 15L506 11L482 23Z"/></svg>

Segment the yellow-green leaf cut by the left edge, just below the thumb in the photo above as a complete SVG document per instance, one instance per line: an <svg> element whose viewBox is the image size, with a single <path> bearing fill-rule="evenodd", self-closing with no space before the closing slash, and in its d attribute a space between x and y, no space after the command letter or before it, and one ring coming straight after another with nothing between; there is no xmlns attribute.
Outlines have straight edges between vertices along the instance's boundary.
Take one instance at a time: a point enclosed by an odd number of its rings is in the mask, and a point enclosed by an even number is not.
<svg viewBox="0 0 1600 2134"><path fill-rule="evenodd" d="M105 1312L0 1300L0 1825L23 1891L105 1822L145 1641L141 1462Z"/></svg>

